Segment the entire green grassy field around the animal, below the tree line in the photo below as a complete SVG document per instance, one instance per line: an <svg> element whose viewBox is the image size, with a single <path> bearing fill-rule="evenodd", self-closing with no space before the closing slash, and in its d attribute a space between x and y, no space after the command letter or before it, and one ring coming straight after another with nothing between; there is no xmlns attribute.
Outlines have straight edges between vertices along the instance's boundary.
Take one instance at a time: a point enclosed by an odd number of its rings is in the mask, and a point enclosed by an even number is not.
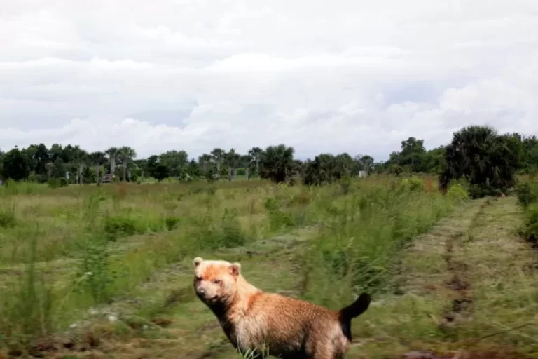
<svg viewBox="0 0 538 359"><path fill-rule="evenodd" d="M195 298L196 256L332 309L370 292L347 358L538 358L538 252L516 198L436 188L2 187L0 358L240 358Z"/></svg>

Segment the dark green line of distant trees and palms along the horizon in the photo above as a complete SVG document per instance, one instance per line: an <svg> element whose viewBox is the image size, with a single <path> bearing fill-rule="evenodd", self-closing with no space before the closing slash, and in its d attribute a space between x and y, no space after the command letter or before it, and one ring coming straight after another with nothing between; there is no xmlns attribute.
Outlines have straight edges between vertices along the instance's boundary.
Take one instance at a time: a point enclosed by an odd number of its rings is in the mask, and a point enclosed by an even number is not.
<svg viewBox="0 0 538 359"><path fill-rule="evenodd" d="M189 158L186 151L137 159L131 147L111 147L106 151L88 152L78 145L32 144L0 151L0 175L15 181L64 183L101 183L105 174L114 180L138 182L146 177L158 181L173 177L180 181L195 179L262 178L283 182L301 180L304 184L324 184L343 177L368 173L426 172L439 174L441 182L482 173L490 183L502 182L515 172L537 172L538 138L518 133L499 135L488 126L468 126L453 134L446 146L427 150L424 140L409 137L401 142L387 161L375 162L368 155L319 154L305 161L294 157L293 147L285 144L265 149L253 147L246 154L215 148L198 158ZM464 168L464 169L462 169ZM490 168L485 170L484 168ZM480 177L480 175L478 176ZM473 179L471 179L472 181Z"/></svg>

